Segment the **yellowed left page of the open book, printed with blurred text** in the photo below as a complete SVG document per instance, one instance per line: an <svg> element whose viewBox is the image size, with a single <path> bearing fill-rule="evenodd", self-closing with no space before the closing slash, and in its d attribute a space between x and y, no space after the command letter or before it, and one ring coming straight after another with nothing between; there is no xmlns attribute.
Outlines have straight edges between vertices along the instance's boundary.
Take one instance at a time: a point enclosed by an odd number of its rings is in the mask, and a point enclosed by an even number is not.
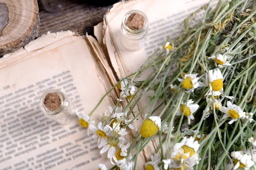
<svg viewBox="0 0 256 170"><path fill-rule="evenodd" d="M58 89L80 112L93 110L111 85L91 50L84 37L73 35L0 63L0 169L95 170L110 164L78 119L59 125L38 105L41 94ZM92 119L99 122L115 98L106 96Z"/></svg>

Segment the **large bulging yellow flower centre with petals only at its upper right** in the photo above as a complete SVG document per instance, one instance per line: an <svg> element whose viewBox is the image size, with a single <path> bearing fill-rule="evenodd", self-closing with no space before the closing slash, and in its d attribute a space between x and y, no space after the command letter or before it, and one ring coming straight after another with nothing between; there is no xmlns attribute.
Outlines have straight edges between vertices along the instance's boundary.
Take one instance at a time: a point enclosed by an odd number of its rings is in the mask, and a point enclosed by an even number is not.
<svg viewBox="0 0 256 170"><path fill-rule="evenodd" d="M142 137L148 138L156 134L158 131L159 127L151 119L145 119L141 126L140 134Z"/></svg>

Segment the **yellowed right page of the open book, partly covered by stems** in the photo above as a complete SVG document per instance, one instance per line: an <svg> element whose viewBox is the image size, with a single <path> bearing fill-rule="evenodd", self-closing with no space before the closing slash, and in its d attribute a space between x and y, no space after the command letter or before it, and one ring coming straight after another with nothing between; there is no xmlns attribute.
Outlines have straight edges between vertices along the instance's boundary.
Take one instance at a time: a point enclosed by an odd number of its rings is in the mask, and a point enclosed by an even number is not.
<svg viewBox="0 0 256 170"><path fill-rule="evenodd" d="M193 11L200 8L209 0L130 0L125 3L117 3L106 14L105 17L105 44L108 48L108 54L111 59L114 71L119 79L126 77L136 72L146 59L154 53L154 51L163 45L163 42L170 35L170 33ZM213 0L212 6L217 4L218 0ZM145 45L138 51L126 50L121 42L121 23L122 17L131 10L143 11L148 17L148 36L145 40ZM203 12L198 17L203 17ZM191 23L195 24L195 23ZM173 31L171 38L175 38L180 33L177 29ZM176 67L171 71L175 71ZM143 74L139 80L145 79L151 71L147 71ZM161 79L161 75L157 77ZM138 113L143 107L148 104L148 95L153 94L153 91L149 91L145 94L138 107L134 109L135 114ZM160 104L160 101L157 103ZM140 116L137 124L137 132L140 130L140 125L143 122L143 115L148 113L149 108L145 109ZM157 113L156 113L157 114ZM187 125L183 125L185 128ZM151 143L143 150L147 161L150 161L150 155L154 154L155 150L159 146L158 137L156 136Z"/></svg>

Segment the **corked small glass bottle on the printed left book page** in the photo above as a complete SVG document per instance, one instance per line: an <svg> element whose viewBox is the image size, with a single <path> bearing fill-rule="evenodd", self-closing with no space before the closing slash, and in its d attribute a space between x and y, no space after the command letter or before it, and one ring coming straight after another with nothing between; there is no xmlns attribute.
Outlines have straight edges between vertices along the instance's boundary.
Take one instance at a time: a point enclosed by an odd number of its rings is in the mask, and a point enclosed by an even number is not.
<svg viewBox="0 0 256 170"><path fill-rule="evenodd" d="M44 114L60 124L68 124L76 118L76 110L70 99L58 90L45 92L40 99Z"/></svg>

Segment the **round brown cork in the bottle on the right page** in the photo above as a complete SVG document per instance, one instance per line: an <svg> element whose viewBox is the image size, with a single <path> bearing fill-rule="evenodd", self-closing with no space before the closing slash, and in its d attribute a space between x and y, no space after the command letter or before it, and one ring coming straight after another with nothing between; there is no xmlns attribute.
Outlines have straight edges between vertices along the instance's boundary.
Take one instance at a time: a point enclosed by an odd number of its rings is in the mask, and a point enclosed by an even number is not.
<svg viewBox="0 0 256 170"><path fill-rule="evenodd" d="M131 30L139 30L143 27L145 22L144 17L141 14L138 13L132 13L126 21L126 25L131 29Z"/></svg>

